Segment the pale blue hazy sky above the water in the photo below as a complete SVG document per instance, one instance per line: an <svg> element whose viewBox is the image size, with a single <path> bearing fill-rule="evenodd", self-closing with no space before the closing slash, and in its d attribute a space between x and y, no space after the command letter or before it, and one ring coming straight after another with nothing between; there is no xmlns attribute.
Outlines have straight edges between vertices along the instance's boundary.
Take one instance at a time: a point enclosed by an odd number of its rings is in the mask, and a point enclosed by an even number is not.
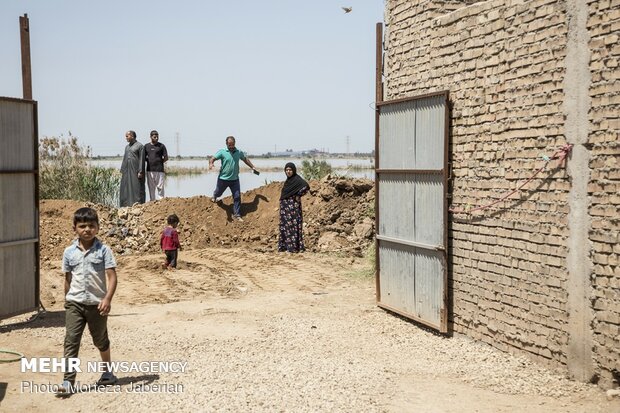
<svg viewBox="0 0 620 413"><path fill-rule="evenodd" d="M102 156L122 154L130 129L142 143L158 130L173 156L212 155L228 135L257 155L370 152L383 10L383 0L1 0L0 96L22 97L27 13L40 137L70 133Z"/></svg>

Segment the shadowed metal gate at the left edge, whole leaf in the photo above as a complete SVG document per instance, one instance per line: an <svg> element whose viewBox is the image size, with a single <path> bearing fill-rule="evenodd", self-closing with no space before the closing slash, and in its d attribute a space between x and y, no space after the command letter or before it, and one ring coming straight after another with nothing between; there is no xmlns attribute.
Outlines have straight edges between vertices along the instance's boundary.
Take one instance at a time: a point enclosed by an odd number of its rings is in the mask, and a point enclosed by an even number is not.
<svg viewBox="0 0 620 413"><path fill-rule="evenodd" d="M0 97L0 318L39 304L37 104Z"/></svg>

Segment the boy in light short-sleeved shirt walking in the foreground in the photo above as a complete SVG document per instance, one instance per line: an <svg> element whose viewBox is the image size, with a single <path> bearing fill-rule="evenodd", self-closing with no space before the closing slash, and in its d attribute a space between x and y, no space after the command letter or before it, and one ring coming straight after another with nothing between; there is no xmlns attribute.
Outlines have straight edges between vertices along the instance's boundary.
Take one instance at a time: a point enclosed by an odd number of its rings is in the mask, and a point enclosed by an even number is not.
<svg viewBox="0 0 620 413"><path fill-rule="evenodd" d="M116 261L112 250L97 238L99 217L92 208L80 208L73 216L73 230L78 238L65 249L62 271L65 273L65 366L69 358L77 358L82 333L88 324L93 343L99 349L106 371L97 381L99 386L113 385L116 376L110 370L108 314L116 291ZM58 396L73 393L77 372L66 371L58 388Z"/></svg>

